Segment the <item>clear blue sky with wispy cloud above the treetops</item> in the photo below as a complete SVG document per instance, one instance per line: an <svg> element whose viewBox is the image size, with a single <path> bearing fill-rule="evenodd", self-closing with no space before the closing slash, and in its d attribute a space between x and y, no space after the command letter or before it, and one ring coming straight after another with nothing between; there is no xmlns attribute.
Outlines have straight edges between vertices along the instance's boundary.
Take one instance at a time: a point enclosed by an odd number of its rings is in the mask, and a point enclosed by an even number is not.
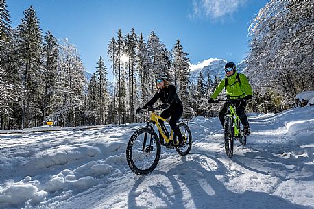
<svg viewBox="0 0 314 209"><path fill-rule="evenodd" d="M247 55L247 29L267 0L7 0L12 27L30 5L43 34L68 38L90 73L119 29L134 27L145 40L154 30L171 50L179 39L192 64L208 58L241 62ZM107 61L108 79L112 80Z"/></svg>

